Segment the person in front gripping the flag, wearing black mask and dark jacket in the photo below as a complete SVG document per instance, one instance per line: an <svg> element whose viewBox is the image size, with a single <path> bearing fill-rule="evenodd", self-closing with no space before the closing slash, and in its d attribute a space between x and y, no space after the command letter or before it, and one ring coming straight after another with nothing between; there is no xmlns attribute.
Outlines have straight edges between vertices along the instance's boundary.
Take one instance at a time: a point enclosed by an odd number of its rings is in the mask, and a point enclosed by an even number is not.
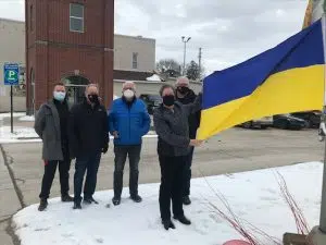
<svg viewBox="0 0 326 245"><path fill-rule="evenodd" d="M201 110L202 96L193 103L181 105L176 101L171 85L163 85L160 95L163 103L154 110L154 127L159 136L158 154L161 167L160 211L165 230L175 229L171 220L171 200L174 219L189 225L183 208L183 175L187 168L191 147L200 146L201 140L189 137L188 118Z"/></svg>

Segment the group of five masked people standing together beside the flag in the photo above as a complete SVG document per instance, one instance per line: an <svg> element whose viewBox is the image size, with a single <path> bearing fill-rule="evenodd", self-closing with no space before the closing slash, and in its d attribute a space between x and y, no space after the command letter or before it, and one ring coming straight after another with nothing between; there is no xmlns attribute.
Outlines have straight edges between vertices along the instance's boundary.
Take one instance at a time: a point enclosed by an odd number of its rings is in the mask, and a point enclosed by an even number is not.
<svg viewBox="0 0 326 245"><path fill-rule="evenodd" d="M166 230L175 229L171 219L190 224L183 205L190 205L190 179L193 147L200 122L201 94L189 87L187 77L179 77L176 86L163 85L162 103L154 110L153 121L158 134L158 155L161 167L160 211ZM35 120L35 131L42 139L45 174L39 195L39 211L48 207L50 189L59 166L61 200L74 203L74 209L98 204L93 199L97 174L102 154L109 149L109 135L114 137L114 196L113 205L121 204L123 174L129 159L129 194L135 203L142 200L138 194L139 161L142 136L150 130L147 106L137 98L133 82L123 84L122 97L115 99L109 111L99 97L96 84L86 87L84 101L71 109L65 85L58 83L53 98L43 103ZM75 161L74 197L70 196L70 168ZM84 195L82 198L83 183Z"/></svg>

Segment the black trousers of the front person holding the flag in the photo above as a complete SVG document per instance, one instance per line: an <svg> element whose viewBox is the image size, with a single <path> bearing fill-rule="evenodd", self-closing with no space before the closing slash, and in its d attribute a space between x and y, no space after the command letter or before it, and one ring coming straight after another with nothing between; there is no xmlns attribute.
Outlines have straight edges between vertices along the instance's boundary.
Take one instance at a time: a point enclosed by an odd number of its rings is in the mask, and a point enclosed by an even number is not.
<svg viewBox="0 0 326 245"><path fill-rule="evenodd" d="M184 216L183 208L183 174L187 157L159 156L161 166L160 211L162 220L171 219L171 200L173 215Z"/></svg>

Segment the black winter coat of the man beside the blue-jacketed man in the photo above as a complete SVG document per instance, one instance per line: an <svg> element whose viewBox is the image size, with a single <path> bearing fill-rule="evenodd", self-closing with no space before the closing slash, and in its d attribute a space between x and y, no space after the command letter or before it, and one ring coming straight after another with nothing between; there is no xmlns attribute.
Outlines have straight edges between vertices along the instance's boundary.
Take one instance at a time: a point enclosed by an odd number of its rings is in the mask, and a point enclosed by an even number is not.
<svg viewBox="0 0 326 245"><path fill-rule="evenodd" d="M75 105L68 122L70 149L73 158L101 151L109 144L106 110L86 101Z"/></svg>

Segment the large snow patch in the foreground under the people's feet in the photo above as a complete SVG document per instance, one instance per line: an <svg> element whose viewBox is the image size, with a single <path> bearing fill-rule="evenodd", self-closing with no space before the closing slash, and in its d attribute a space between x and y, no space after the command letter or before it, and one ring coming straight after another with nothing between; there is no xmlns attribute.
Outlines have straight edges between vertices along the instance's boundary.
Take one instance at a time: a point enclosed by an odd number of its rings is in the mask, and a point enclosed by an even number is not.
<svg viewBox="0 0 326 245"><path fill-rule="evenodd" d="M216 162L218 164L218 162ZM275 170L275 169L274 169ZM16 234L22 245L222 245L233 238L242 238L209 203L223 208L214 192L221 192L233 210L241 218L269 235L281 240L285 232L296 232L290 209L280 197L275 171L211 176L192 181L192 204L185 212L192 220L190 226L176 223L176 230L165 231L159 216L159 184L139 186L143 197L135 204L124 189L121 206L106 208L112 191L96 193L100 205L75 211L72 204L50 200L46 212L37 205L14 216ZM321 205L323 166L311 162L276 169L287 181L288 188L305 213L311 226L317 224ZM268 243L265 243L268 245Z"/></svg>

